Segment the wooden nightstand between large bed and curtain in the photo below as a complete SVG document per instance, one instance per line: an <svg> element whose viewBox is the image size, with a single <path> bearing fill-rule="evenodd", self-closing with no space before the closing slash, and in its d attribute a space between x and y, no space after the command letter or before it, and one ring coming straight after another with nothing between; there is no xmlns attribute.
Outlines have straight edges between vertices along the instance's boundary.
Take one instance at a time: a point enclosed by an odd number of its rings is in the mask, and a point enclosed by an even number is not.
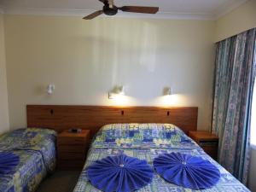
<svg viewBox="0 0 256 192"><path fill-rule="evenodd" d="M218 158L218 137L208 131L189 131L191 137L214 160Z"/></svg>

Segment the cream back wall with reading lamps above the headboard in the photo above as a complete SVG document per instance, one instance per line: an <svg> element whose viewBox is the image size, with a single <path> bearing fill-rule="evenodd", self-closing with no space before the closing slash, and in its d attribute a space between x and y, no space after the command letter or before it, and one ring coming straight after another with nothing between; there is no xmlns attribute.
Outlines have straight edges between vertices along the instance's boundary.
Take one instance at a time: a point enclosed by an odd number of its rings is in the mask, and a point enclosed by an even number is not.
<svg viewBox="0 0 256 192"><path fill-rule="evenodd" d="M211 124L214 21L5 16L12 129L26 104L198 106ZM45 93L47 84L55 93ZM125 85L123 101L108 90ZM171 86L173 96L162 95Z"/></svg>

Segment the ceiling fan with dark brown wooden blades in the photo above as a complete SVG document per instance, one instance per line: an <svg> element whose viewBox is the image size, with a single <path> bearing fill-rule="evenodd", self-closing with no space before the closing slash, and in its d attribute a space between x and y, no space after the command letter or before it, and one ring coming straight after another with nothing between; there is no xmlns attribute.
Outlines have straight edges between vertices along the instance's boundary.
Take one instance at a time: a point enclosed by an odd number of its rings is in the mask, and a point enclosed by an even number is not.
<svg viewBox="0 0 256 192"><path fill-rule="evenodd" d="M99 15L116 15L119 10L124 12L141 13L141 14L156 14L159 11L158 7L141 7L141 6L123 6L116 7L113 0L99 0L104 3L103 9L94 12L93 14L85 16L84 20L92 20Z"/></svg>

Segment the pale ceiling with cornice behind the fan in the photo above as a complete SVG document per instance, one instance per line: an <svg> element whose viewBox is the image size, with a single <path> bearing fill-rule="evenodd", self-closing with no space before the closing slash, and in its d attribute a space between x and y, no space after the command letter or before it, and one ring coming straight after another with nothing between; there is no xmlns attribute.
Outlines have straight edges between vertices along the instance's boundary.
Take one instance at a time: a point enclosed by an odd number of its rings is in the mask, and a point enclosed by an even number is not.
<svg viewBox="0 0 256 192"><path fill-rule="evenodd" d="M117 6L158 6L160 12L150 17L170 19L214 20L245 3L247 0L115 0ZM97 0L0 0L7 14L86 15L102 9ZM119 14L132 16L148 16Z"/></svg>

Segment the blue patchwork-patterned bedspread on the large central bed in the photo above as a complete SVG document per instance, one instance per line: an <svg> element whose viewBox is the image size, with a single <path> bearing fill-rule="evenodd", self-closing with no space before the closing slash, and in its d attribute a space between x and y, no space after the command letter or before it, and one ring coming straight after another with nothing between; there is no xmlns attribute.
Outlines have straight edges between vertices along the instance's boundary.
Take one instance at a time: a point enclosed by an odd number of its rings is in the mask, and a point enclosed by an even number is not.
<svg viewBox="0 0 256 192"><path fill-rule="evenodd" d="M230 172L227 172L215 160L207 155L192 139L187 137L177 126L170 124L113 124L105 125L96 134L83 172L79 177L74 192L99 192L88 181L86 167L95 160L101 160L109 155L127 154L141 160L147 160L153 167L155 157L164 153L180 152L201 156L210 160L217 166L221 177L217 185L211 189L193 190L185 189L172 183L167 183L162 177L154 172L153 182L138 192L243 192L249 191Z"/></svg>

